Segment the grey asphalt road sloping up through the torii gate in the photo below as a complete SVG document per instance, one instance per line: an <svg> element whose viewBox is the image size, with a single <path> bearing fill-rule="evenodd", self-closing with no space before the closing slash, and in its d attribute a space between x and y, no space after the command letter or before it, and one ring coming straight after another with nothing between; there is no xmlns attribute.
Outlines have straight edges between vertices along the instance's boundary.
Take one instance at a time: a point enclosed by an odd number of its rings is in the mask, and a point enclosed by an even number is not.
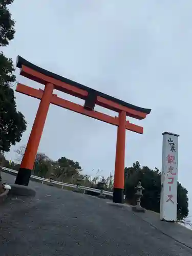
<svg viewBox="0 0 192 256"><path fill-rule="evenodd" d="M7 182L15 180L2 176ZM15 197L0 205L2 256L192 255L192 249L133 214L130 207L114 207L105 199L35 182L30 186L37 191L35 198Z"/></svg>

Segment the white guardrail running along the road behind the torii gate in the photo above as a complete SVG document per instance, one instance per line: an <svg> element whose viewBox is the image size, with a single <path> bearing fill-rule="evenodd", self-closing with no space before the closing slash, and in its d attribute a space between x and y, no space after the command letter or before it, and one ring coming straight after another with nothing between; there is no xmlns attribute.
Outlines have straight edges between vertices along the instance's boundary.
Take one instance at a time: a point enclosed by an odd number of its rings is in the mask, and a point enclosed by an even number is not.
<svg viewBox="0 0 192 256"><path fill-rule="evenodd" d="M18 173L17 170L9 169L9 168L3 167L3 166L2 166L2 170L6 170L7 172L14 173L14 174ZM51 184L60 185L61 188L63 188L63 187L73 187L73 188L78 188L78 189L81 189L81 190L92 191L92 192L98 193L100 195L113 196L113 192L100 190L100 189L96 189L96 188L92 188L92 187L84 187L84 186L79 186L79 185L77 186L75 184L63 183L63 182L56 181L56 180L45 179L45 178L41 178L41 177L38 177L38 176L35 176L35 175L31 175L31 178L34 179L34 180L40 180L42 184L44 182L48 182L49 184L51 183Z"/></svg>

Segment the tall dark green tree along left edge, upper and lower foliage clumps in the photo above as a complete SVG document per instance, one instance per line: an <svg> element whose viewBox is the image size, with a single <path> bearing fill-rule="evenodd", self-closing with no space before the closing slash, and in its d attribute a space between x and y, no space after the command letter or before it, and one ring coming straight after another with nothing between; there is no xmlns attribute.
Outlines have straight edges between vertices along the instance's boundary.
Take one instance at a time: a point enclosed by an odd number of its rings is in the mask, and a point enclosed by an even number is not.
<svg viewBox="0 0 192 256"><path fill-rule="evenodd" d="M14 20L11 19L8 5L13 0L0 2L0 46L7 46L14 37ZM26 130L26 121L22 113L16 111L13 89L10 84L15 81L12 59L0 53L0 142L1 150L8 152L22 138Z"/></svg>

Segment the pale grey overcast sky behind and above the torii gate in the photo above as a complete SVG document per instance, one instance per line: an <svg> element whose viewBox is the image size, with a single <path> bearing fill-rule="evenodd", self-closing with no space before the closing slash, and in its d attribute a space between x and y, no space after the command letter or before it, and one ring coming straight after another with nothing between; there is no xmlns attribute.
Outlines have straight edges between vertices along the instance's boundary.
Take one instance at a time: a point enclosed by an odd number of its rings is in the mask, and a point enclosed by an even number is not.
<svg viewBox="0 0 192 256"><path fill-rule="evenodd" d="M138 160L161 169L162 132L179 134L178 177L192 198L191 11L191 0L33 0L27 4L19 0L11 6L15 38L4 52L14 61L20 55L88 87L152 109L145 120L130 118L144 127L144 134L126 132L125 164ZM19 76L18 70L16 74L18 81L43 88ZM15 96L17 110L28 125L22 141L7 154L12 160L14 150L27 143L39 104L37 99ZM51 105L39 151L55 160L65 156L79 161L84 173L94 175L100 169L109 175L114 169L116 133L115 126Z"/></svg>

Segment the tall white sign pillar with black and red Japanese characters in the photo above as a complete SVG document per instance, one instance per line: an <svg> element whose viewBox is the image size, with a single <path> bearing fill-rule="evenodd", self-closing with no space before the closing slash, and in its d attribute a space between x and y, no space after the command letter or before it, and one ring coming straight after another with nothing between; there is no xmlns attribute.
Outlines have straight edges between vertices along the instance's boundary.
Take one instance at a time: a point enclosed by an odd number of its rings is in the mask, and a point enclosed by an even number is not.
<svg viewBox="0 0 192 256"><path fill-rule="evenodd" d="M178 137L163 133L160 220L177 221Z"/></svg>

